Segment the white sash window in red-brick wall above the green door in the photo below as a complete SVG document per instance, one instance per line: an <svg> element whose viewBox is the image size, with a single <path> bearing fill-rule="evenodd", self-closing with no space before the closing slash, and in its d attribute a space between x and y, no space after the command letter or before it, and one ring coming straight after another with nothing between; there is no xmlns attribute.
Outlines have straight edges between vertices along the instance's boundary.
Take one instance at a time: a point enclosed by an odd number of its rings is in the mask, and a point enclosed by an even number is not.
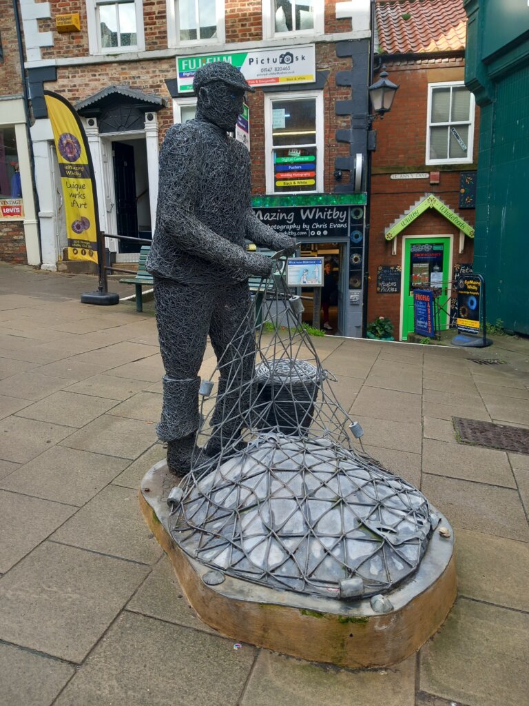
<svg viewBox="0 0 529 706"><path fill-rule="evenodd" d="M463 81L430 83L426 164L472 162L474 96Z"/></svg>

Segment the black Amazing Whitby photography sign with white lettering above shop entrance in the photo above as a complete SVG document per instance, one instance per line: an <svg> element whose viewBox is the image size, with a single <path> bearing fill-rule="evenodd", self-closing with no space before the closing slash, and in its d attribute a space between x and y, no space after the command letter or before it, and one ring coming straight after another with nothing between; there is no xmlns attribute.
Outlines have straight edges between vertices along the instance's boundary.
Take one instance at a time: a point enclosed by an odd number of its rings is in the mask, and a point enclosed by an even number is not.
<svg viewBox="0 0 529 706"><path fill-rule="evenodd" d="M332 242L349 237L348 206L256 208L255 215L278 233L296 240L322 238Z"/></svg>

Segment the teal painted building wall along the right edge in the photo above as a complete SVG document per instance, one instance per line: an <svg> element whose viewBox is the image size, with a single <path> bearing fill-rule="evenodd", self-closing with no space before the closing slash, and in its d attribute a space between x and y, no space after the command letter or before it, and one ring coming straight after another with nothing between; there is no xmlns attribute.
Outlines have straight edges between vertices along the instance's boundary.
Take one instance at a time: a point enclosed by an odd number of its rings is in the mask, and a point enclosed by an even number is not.
<svg viewBox="0 0 529 706"><path fill-rule="evenodd" d="M466 84L480 104L474 270L485 277L488 321L529 335L529 42L494 44L490 59L490 18L502 21L493 5L466 1ZM512 40L512 30L506 22L496 35Z"/></svg>

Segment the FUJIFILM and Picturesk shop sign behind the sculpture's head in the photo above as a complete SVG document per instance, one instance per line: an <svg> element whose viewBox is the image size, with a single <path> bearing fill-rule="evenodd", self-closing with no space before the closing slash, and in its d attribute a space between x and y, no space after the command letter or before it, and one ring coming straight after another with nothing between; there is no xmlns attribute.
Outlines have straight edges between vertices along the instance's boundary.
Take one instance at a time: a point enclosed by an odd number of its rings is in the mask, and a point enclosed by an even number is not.
<svg viewBox="0 0 529 706"><path fill-rule="evenodd" d="M228 61L236 66L253 86L314 83L316 80L315 45L300 44L298 47L279 49L182 56L176 60L178 93L192 93L197 68L216 61ZM276 119L279 120L279 116Z"/></svg>

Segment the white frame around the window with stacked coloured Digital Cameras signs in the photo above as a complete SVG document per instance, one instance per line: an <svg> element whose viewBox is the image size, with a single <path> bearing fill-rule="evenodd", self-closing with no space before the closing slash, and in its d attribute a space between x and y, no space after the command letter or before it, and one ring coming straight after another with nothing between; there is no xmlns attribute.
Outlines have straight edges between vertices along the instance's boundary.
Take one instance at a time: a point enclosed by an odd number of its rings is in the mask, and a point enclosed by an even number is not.
<svg viewBox="0 0 529 706"><path fill-rule="evenodd" d="M275 100L316 99L316 184L313 191L274 191L274 161L272 159L272 104ZM285 93L265 93L265 169L267 194L286 196L289 193L322 193L323 191L323 150L324 150L324 111L323 91L288 91ZM279 149L276 147L276 149Z"/></svg>

